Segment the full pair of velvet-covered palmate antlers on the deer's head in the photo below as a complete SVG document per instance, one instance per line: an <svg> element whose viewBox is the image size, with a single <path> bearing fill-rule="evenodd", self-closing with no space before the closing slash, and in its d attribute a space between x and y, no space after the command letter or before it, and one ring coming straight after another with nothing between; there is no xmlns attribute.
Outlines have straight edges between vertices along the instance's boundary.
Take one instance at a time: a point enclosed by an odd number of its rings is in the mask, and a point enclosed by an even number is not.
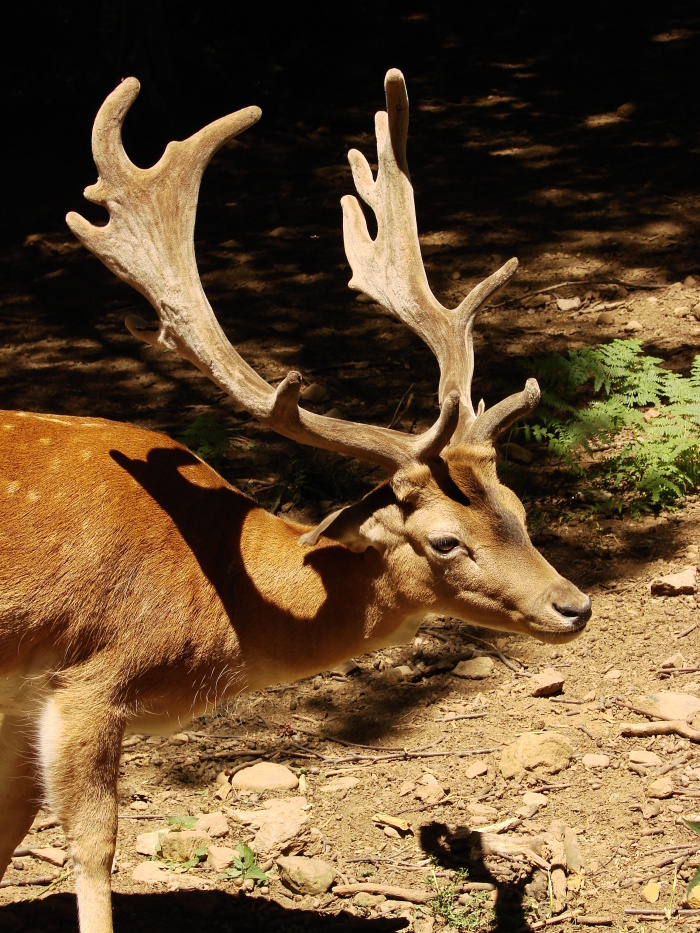
<svg viewBox="0 0 700 933"><path fill-rule="evenodd" d="M124 151L121 128L139 92L127 78L104 102L95 120L92 149L99 172L85 197L107 208L109 222L88 223L71 212L69 227L116 275L153 305L159 323L129 316L127 327L141 340L168 347L190 360L263 424L313 447L367 460L394 472L439 456L452 442L489 441L534 408L539 390L524 392L478 414L471 403L471 329L477 309L512 276L511 260L472 290L456 311L443 308L428 288L416 231L413 190L406 168L408 99L403 76L386 79L387 113L377 114L379 174L354 150L350 161L358 191L375 210L372 241L359 204L343 199L345 244L361 288L404 321L433 350L440 364L440 416L423 434L406 435L375 425L316 415L299 407L301 376L290 372L273 388L236 352L204 294L194 255L194 222L202 174L214 153L260 118L257 107L222 117L182 142L168 145L148 169ZM460 406L461 402L461 406ZM461 417L460 417L461 407Z"/></svg>

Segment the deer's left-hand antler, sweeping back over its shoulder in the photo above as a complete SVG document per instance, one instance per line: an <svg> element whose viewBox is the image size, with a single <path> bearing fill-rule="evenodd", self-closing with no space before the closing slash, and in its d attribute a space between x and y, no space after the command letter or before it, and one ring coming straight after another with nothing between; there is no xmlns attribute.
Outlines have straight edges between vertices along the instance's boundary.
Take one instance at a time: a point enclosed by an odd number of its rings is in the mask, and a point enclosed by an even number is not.
<svg viewBox="0 0 700 933"><path fill-rule="evenodd" d="M239 110L189 139L171 142L156 165L140 169L126 155L121 135L138 92L139 82L127 78L95 119L92 150L99 178L85 197L107 208L109 222L98 227L73 212L66 217L78 239L155 308L159 325L130 315L126 324L131 333L175 350L261 422L301 443L368 460L391 472L437 457L457 425L456 394L445 397L432 428L409 436L304 411L298 404L299 373L290 372L275 389L236 352L199 279L194 222L204 169L227 140L257 122L260 110Z"/></svg>

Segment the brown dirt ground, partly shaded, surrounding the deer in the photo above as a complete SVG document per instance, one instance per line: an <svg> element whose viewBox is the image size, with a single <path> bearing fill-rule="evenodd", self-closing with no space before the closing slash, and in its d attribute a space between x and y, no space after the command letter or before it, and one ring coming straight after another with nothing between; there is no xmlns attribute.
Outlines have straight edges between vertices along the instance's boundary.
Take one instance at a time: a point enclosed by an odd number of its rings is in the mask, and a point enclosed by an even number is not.
<svg viewBox="0 0 700 933"><path fill-rule="evenodd" d="M700 307L700 141L694 92L674 81L697 61L699 36L688 18L658 32L650 24L639 40L644 55L620 62L626 77L615 87L594 82L589 94L576 91L580 49L565 77L534 53L477 62L471 86L448 83L436 68L407 71L409 164L434 292L453 306L511 255L521 262L477 322L476 400L483 395L491 404L519 388L527 358L548 350L634 335L679 371L700 353L693 313ZM443 38L447 53L456 48ZM378 75L372 91L358 89L352 108L324 97L314 120L277 114L271 132L263 122L229 145L205 179L197 254L222 325L265 378L298 368L325 391L314 410L337 408L408 431L434 417L437 369L416 338L347 291L337 206L351 191L344 153L354 146L371 156L372 114L381 106ZM122 321L148 310L73 241L60 214L0 259L5 407L129 420L173 436L197 416L216 417L232 432L224 475L296 520L314 521L379 481L376 471L269 435L187 364L138 346ZM533 307L534 293L545 303ZM557 299L571 297L581 306L560 310ZM609 323L600 322L602 311L611 312ZM251 838L234 811L259 801L214 795L221 771L253 758L304 775L310 832L303 852L330 861L344 882L447 892L443 901L452 893L455 909L466 894L465 928L510 933L552 921L569 931L586 918L639 933L700 927L698 915L677 912L700 863L696 837L682 822L700 819L700 748L677 735L621 734L623 723L646 722L625 705L638 695L700 697L698 597L649 591L652 579L697 566L700 498L640 521L600 516L556 465L533 454L519 491L539 516L537 546L591 595L594 614L582 637L553 649L432 618L412 643L357 658L349 673L323 672L242 698L174 740L130 741L113 876L117 931L428 933L447 922L430 905L391 898L362 906L330 893L292 895L274 871L264 887L241 890L206 862L173 873L169 885L134 882L144 860L136 835L165 828L169 816L221 810L225 844ZM457 662L474 650L491 652L491 672L483 680L456 676ZM677 653L669 673L662 664ZM530 696L533 676L548 667L564 676L563 692ZM504 778L500 749L522 733L550 730L573 745L569 765L554 775ZM657 753L661 764L630 767L635 749ZM591 753L607 764L584 765ZM466 777L475 763L483 773ZM324 792L346 774L359 783ZM426 774L443 788L436 803L416 797ZM660 776L671 778L672 790L656 799L650 784ZM518 817L532 790L546 803ZM373 820L378 811L407 820L410 831L385 832L386 823ZM64 844L59 828L41 828L49 817L40 813L25 845ZM469 830L509 818L517 822L502 837L520 845L553 823L556 831L556 821L575 833L582 865L569 866L563 918L553 913L546 873L526 856L475 852ZM469 881L493 884L496 895L470 893L465 868ZM48 891L0 890L0 929L75 929L69 873L25 856L6 881L36 875L58 880ZM653 881L659 897L650 904L642 891ZM650 908L656 915L630 913Z"/></svg>

